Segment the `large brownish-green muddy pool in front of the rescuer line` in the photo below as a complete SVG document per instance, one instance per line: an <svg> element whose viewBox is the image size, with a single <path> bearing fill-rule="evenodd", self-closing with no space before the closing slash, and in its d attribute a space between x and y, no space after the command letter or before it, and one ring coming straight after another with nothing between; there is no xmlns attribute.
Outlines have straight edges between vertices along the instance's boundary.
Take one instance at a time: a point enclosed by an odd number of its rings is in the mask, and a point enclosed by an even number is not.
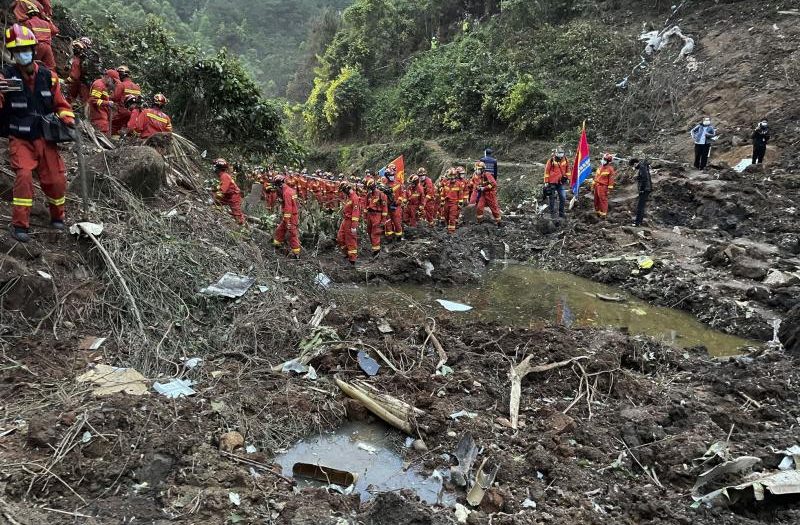
<svg viewBox="0 0 800 525"><path fill-rule="evenodd" d="M451 314L465 318L530 328L548 322L566 326L627 327L631 333L649 335L683 348L703 345L714 356L735 355L744 347L759 345L715 331L685 312L651 306L618 288L526 265L495 267L475 286L441 289L402 285L370 293L382 298L378 300L395 305L403 304L403 294L433 313L445 312L435 301L446 299L472 306L469 312ZM596 294L622 296L625 302L604 301Z"/></svg>

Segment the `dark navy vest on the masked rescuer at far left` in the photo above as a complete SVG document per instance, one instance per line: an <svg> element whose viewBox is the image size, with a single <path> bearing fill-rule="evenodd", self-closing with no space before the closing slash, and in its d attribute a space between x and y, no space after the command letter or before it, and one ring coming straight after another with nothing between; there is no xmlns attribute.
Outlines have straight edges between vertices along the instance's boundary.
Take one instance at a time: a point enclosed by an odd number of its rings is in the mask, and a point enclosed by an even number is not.
<svg viewBox="0 0 800 525"><path fill-rule="evenodd" d="M3 70L7 79L22 80L22 91L5 94L5 103L0 113L0 136L17 137L24 140L35 140L42 137L42 117L54 111L53 74L46 67L39 65L30 91L16 66L10 65Z"/></svg>

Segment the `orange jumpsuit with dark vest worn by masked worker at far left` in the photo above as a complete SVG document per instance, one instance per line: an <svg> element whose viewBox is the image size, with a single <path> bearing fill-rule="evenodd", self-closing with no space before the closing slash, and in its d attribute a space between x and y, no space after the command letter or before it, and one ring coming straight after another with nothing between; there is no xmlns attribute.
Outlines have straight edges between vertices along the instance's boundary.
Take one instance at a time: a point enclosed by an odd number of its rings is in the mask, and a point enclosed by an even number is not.
<svg viewBox="0 0 800 525"><path fill-rule="evenodd" d="M8 126L11 168L16 174L11 223L25 229L30 227L34 171L50 203L50 220L64 221L66 167L58 146L43 138L39 115L55 113L66 124L75 122L56 74L36 63L33 68L28 76L14 65L6 66L3 76L21 78L24 87L22 92L0 95L0 121Z"/></svg>

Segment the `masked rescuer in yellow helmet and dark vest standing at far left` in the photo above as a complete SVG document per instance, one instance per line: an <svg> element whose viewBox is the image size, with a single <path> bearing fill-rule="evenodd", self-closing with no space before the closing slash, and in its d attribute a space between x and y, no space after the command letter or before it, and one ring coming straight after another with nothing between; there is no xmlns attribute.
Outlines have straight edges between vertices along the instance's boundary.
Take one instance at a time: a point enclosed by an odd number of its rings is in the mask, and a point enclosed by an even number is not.
<svg viewBox="0 0 800 525"><path fill-rule="evenodd" d="M34 171L50 204L50 225L56 230L64 229L66 167L56 143L44 138L42 116L55 114L64 125L74 127L75 115L61 93L55 72L34 62L33 31L14 24L6 30L5 44L16 62L3 69L0 79L0 130L8 137L11 167L16 175L11 236L28 242ZM10 85L19 81L22 89Z"/></svg>

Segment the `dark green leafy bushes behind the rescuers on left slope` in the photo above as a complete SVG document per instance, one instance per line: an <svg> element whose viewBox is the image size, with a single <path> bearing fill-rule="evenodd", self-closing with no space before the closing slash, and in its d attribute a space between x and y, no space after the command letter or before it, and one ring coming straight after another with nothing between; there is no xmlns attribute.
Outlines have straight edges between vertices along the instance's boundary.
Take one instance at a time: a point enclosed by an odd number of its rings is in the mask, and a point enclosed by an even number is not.
<svg viewBox="0 0 800 525"><path fill-rule="evenodd" d="M241 61L224 49L207 55L179 44L154 15L139 26L88 19L86 32L104 67L128 64L145 93L163 92L176 127L204 147L271 154L292 145L280 109L262 98Z"/></svg>

